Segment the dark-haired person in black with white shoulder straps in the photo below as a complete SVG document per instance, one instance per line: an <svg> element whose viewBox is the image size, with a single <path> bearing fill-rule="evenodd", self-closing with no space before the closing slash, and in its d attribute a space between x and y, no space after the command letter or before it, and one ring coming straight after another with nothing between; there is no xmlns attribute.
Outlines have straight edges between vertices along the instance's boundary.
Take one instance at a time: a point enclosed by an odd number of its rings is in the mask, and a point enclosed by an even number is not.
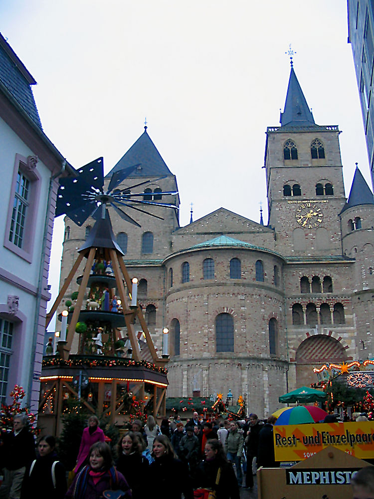
<svg viewBox="0 0 374 499"><path fill-rule="evenodd" d="M55 453L56 440L52 436L41 437L37 446L38 458L26 468L23 477L21 499L29 498L33 491L38 499L62 499L67 490L66 471Z"/></svg>

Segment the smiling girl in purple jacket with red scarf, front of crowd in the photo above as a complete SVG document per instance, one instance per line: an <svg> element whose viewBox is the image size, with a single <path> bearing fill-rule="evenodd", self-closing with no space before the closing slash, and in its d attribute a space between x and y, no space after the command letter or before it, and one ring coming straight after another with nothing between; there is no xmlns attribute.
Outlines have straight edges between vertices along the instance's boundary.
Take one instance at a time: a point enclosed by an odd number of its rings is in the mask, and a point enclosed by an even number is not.
<svg viewBox="0 0 374 499"><path fill-rule="evenodd" d="M99 499L107 490L125 493L130 499L131 489L122 473L113 466L112 455L108 444L97 442L89 452L89 464L74 478L65 498Z"/></svg>

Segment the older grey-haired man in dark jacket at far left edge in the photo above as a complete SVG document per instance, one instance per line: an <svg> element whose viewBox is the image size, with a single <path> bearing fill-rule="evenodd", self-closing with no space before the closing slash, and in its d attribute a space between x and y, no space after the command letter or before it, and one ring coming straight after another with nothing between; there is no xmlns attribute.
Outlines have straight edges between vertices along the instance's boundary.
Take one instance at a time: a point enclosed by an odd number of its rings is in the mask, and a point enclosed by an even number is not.
<svg viewBox="0 0 374 499"><path fill-rule="evenodd" d="M13 418L13 431L1 433L0 449L5 460L0 499L19 499L26 467L35 459L35 440L27 425L27 415L17 414Z"/></svg>

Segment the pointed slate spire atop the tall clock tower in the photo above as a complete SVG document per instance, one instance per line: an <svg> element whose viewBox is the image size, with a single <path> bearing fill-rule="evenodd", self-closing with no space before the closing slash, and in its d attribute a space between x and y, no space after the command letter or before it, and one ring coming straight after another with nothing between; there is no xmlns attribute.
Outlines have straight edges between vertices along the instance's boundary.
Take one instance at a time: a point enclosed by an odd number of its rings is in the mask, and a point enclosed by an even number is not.
<svg viewBox="0 0 374 499"><path fill-rule="evenodd" d="M281 126L311 126L316 124L292 65L284 112L281 113L280 123Z"/></svg>

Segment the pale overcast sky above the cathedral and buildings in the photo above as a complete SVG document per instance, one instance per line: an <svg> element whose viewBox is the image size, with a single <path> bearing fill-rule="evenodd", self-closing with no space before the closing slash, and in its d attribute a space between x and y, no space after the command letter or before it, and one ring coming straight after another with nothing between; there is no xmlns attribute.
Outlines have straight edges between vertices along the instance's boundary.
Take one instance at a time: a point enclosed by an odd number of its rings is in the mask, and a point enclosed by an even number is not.
<svg viewBox="0 0 374 499"><path fill-rule="evenodd" d="M267 222L265 131L294 69L319 125L339 125L346 196L368 157L344 0L2 0L1 32L38 84L44 132L104 173L144 131L177 176L181 226L219 207ZM62 217L50 283L58 286Z"/></svg>

